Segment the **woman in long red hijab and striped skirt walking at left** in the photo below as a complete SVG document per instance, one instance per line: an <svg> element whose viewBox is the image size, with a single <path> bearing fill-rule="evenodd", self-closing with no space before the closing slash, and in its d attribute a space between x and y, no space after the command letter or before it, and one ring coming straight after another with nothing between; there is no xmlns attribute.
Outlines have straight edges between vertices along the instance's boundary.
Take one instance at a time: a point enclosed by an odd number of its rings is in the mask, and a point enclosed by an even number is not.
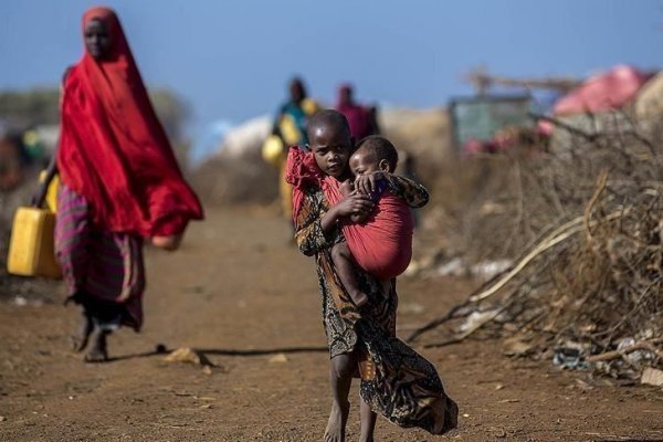
<svg viewBox="0 0 663 442"><path fill-rule="evenodd" d="M85 53L64 78L55 246L83 307L74 348L107 359L106 337L143 323L144 239L173 250L202 208L177 165L115 12L83 17Z"/></svg>

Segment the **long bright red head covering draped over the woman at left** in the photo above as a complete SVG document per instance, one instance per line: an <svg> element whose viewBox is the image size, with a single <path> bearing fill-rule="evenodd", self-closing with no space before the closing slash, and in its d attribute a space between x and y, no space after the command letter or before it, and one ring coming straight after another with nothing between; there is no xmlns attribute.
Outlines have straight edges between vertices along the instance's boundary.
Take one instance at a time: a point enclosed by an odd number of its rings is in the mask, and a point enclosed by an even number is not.
<svg viewBox="0 0 663 442"><path fill-rule="evenodd" d="M88 200L94 222L141 236L181 233L202 219L170 143L149 102L115 12L92 8L105 23L110 49L103 60L85 51L69 72L62 99L57 168L62 180Z"/></svg>

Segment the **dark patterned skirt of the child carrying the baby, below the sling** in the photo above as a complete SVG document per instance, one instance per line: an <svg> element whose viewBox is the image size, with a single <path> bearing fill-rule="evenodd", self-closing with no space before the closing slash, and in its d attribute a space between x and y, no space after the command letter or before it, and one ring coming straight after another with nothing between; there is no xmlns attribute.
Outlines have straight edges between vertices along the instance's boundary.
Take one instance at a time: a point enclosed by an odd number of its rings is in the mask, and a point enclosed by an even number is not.
<svg viewBox="0 0 663 442"><path fill-rule="evenodd" d="M369 307L359 313L343 288L329 253L319 253L317 263L330 357L356 351L367 355L375 366L375 376L361 380L364 401L403 428L419 427L432 434L456 428L459 408L444 392L435 367L396 337L396 280L386 287L357 270L357 282L370 299Z"/></svg>

